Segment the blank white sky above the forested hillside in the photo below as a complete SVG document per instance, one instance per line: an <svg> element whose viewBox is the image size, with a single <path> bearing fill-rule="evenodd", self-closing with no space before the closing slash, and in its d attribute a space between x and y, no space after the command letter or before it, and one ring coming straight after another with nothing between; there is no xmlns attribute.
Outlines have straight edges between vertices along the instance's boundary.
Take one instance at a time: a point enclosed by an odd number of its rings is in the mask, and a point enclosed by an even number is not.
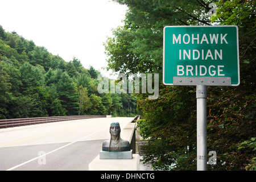
<svg viewBox="0 0 256 182"><path fill-rule="evenodd" d="M92 65L106 75L103 43L112 28L123 25L127 7L112 0L0 0L0 9L5 31L16 31L67 62L75 56L85 68Z"/></svg>

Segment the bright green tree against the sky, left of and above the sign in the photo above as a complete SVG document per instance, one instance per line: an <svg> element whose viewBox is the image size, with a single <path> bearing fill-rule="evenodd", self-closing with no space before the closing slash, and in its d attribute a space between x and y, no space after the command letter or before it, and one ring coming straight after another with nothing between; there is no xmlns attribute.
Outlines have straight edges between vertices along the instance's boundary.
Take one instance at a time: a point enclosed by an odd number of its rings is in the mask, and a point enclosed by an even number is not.
<svg viewBox="0 0 256 182"><path fill-rule="evenodd" d="M108 65L115 71L161 73L163 27L210 24L208 1L116 1L129 11L125 26L114 30L105 44Z"/></svg>

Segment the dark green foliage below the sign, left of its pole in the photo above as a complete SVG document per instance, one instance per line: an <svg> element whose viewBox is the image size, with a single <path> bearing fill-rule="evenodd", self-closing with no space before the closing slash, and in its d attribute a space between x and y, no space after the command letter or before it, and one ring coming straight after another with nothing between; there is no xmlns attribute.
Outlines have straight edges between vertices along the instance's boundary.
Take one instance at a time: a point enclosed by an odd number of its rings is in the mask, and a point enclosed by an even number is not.
<svg viewBox="0 0 256 182"><path fill-rule="evenodd" d="M138 121L140 132L143 138L150 138L144 148L144 160L151 161L154 169L191 170L195 167L194 94L195 90L189 86L181 89L164 87L158 100L138 101L138 107L143 112L143 119ZM154 146L156 148L152 148Z"/></svg>

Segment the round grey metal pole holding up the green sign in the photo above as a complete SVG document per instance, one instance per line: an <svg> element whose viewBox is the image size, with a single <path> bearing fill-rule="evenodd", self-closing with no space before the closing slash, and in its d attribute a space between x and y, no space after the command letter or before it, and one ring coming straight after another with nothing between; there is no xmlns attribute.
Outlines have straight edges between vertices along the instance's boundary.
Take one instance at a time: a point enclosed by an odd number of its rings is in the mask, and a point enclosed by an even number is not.
<svg viewBox="0 0 256 182"><path fill-rule="evenodd" d="M207 171L207 85L196 85L197 171Z"/></svg>

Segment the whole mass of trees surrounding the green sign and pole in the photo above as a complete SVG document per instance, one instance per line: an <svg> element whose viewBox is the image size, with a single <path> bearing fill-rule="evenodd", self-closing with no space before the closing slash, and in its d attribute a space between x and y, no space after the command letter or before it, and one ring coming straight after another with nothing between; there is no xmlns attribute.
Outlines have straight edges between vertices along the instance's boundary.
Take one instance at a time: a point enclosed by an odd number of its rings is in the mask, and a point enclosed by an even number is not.
<svg viewBox="0 0 256 182"><path fill-rule="evenodd" d="M129 7L125 25L105 43L109 68L122 73L159 73L162 80L165 26L236 25L240 85L208 86L207 149L217 164L208 170L256 169L254 0L115 0ZM216 4L216 14L210 16ZM213 13L215 13L213 11ZM138 96L144 160L159 170L196 170L196 86L159 85L157 100ZM208 154L207 153L207 154ZM209 158L209 156L208 156Z"/></svg>

